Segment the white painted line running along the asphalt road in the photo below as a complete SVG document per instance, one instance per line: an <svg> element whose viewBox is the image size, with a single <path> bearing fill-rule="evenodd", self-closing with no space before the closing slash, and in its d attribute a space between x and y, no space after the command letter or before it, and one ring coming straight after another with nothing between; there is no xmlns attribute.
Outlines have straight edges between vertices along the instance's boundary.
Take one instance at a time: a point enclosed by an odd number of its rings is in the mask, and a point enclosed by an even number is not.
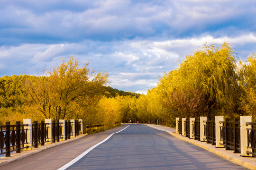
<svg viewBox="0 0 256 170"><path fill-rule="evenodd" d="M127 127L129 127L130 125L128 125ZM81 153L78 157L76 157L75 159L73 159L72 161L68 162L67 164L65 164L63 167L59 168L58 170L65 170L68 167L70 167L71 165L73 165L76 161L80 160L83 156L85 156L87 153L89 153L92 149L96 148L97 146L99 146L100 144L106 142L111 136L113 136L114 134L117 134L121 131L123 131L124 129L126 129L127 127L123 128L122 130L116 132L116 133L112 133L110 136L108 136L106 139L104 139L103 141L101 141L98 144L95 144L94 146L91 146L89 149L87 149L86 151L84 151L83 153Z"/></svg>

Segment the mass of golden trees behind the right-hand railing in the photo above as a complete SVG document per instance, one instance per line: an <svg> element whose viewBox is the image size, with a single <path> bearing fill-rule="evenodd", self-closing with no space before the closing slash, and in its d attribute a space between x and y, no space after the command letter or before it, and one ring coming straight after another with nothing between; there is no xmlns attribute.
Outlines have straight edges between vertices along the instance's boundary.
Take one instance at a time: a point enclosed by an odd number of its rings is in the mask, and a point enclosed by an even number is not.
<svg viewBox="0 0 256 170"><path fill-rule="evenodd" d="M251 115L256 121L256 54L242 62L229 43L205 43L139 96L137 105L138 119L173 127L176 117Z"/></svg>

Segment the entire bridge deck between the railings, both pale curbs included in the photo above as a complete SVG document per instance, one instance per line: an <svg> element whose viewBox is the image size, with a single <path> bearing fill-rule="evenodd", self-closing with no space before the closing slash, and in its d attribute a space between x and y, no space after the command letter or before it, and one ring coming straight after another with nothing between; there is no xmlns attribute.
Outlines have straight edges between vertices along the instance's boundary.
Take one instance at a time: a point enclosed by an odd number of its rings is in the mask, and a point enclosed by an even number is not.
<svg viewBox="0 0 256 170"><path fill-rule="evenodd" d="M0 164L1 170L256 169L255 158L241 157L182 136L175 128L154 124L123 124L93 135L79 135L1 157Z"/></svg>

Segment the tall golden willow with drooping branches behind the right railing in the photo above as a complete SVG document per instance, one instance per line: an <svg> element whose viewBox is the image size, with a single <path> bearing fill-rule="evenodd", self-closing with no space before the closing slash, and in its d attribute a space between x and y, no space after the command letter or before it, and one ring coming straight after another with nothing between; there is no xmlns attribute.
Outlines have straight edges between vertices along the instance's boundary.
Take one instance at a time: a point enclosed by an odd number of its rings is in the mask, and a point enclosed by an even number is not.
<svg viewBox="0 0 256 170"><path fill-rule="evenodd" d="M204 44L160 79L163 101L179 116L233 115L240 97L236 69L228 43Z"/></svg>

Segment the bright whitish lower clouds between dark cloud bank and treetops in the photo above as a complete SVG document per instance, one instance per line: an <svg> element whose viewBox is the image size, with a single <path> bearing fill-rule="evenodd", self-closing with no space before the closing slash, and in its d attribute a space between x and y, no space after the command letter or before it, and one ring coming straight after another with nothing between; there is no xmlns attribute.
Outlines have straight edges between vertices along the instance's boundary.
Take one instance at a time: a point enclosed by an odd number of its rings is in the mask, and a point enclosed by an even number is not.
<svg viewBox="0 0 256 170"><path fill-rule="evenodd" d="M222 44L224 41L242 52L238 54L244 61L255 48L241 51L240 46L255 47L254 33L238 37L214 38L207 35L198 38L173 40L126 40L116 42L93 42L61 44L23 44L0 47L0 76L12 74L37 75L36 70L45 65L56 66L62 57L70 55L82 63L90 60L90 68L110 72L110 86L125 91L143 91L154 87L157 77L176 68L176 62L183 59L204 42ZM10 62L11 60L11 62Z"/></svg>

